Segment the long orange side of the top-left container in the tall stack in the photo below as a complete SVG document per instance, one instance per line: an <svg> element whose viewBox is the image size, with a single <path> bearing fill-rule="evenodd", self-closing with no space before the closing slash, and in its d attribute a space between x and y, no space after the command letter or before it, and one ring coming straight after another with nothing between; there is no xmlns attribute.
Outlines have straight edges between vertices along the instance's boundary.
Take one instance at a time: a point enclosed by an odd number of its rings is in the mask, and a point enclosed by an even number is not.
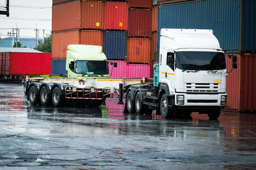
<svg viewBox="0 0 256 170"><path fill-rule="evenodd" d="M80 1L52 6L52 31L80 28Z"/></svg>

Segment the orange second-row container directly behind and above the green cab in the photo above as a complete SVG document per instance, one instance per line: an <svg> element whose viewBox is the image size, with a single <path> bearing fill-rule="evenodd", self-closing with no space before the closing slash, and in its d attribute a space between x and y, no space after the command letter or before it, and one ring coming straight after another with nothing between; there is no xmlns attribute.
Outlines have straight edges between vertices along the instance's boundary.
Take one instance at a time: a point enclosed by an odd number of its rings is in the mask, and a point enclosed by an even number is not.
<svg viewBox="0 0 256 170"><path fill-rule="evenodd" d="M68 45L103 45L102 31L67 31L52 33L52 59L66 59Z"/></svg>

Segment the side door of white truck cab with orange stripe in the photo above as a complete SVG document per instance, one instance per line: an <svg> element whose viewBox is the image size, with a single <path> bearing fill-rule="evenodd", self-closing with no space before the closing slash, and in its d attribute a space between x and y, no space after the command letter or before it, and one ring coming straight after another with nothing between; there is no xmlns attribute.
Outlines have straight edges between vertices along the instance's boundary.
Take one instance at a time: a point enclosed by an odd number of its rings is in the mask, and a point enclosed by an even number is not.
<svg viewBox="0 0 256 170"><path fill-rule="evenodd" d="M159 82L168 83L175 87L175 59L174 53L164 51L161 54L160 69L159 69Z"/></svg>

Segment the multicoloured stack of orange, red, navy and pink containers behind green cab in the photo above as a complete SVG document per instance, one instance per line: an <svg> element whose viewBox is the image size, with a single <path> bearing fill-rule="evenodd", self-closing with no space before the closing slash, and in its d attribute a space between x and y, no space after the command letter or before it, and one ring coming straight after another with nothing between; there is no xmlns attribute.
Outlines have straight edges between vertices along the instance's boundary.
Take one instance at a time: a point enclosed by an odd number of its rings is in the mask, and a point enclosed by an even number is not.
<svg viewBox="0 0 256 170"><path fill-rule="evenodd" d="M132 9L128 10L130 7ZM68 45L86 44L103 46L109 62L118 60L118 64L122 63L123 67L118 66L113 70L124 74L114 73L111 77L130 75L136 78L150 77L150 74L145 73L145 67L152 69L151 8L151 0L131 0L129 3L127 1L53 1L52 66L57 68L52 68L52 74L67 73L60 67L65 67ZM133 17L129 20L131 10ZM129 33L131 39L127 39ZM136 50L132 51L133 49ZM137 73L136 75L131 70L130 63L139 64L134 72ZM109 73L111 66L109 65ZM127 74L130 72L132 74Z"/></svg>

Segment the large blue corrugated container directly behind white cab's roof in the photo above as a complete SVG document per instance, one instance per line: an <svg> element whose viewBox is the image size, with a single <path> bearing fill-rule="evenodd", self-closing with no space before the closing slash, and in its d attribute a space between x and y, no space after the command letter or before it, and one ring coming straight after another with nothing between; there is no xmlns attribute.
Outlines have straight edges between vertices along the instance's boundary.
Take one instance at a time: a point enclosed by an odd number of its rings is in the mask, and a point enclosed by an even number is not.
<svg viewBox="0 0 256 170"><path fill-rule="evenodd" d="M159 6L158 11L157 51L161 28L212 29L223 50L239 51L240 0L201 0L163 4Z"/></svg>

